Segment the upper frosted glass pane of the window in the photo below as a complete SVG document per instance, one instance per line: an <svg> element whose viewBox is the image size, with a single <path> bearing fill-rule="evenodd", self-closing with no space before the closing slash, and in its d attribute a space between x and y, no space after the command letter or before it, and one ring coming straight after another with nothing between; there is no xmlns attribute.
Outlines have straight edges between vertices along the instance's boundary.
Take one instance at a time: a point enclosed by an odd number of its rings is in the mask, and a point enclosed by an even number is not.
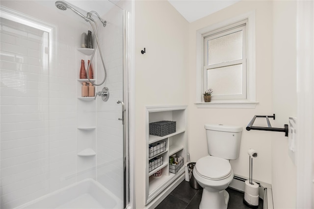
<svg viewBox="0 0 314 209"><path fill-rule="evenodd" d="M208 65L242 59L242 31L211 39L208 44Z"/></svg>

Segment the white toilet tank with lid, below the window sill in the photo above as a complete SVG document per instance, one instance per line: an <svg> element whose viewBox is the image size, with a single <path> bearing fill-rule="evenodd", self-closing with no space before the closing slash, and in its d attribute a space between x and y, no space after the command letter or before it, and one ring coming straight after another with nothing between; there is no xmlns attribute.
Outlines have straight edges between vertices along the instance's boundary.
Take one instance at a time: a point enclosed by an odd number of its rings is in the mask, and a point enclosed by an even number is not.
<svg viewBox="0 0 314 209"><path fill-rule="evenodd" d="M209 155L227 160L239 157L242 127L206 124L205 129Z"/></svg>

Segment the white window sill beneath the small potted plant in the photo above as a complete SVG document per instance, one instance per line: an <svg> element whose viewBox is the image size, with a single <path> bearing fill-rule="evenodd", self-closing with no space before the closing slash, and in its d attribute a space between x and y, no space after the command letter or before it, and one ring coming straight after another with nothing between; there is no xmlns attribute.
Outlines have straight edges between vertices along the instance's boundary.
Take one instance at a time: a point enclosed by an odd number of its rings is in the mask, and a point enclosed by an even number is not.
<svg viewBox="0 0 314 209"><path fill-rule="evenodd" d="M249 101L211 101L211 102L194 102L197 108L243 108L253 109L259 102Z"/></svg>

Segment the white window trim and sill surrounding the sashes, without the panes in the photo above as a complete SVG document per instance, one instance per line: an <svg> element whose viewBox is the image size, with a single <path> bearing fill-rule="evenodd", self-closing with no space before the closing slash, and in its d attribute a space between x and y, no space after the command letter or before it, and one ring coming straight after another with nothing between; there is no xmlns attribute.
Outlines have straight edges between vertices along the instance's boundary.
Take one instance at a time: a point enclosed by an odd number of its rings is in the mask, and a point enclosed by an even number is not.
<svg viewBox="0 0 314 209"><path fill-rule="evenodd" d="M247 96L246 99L212 100L204 102L204 44L203 37L214 31L221 31L223 28L230 28L231 25L247 21ZM196 93L195 102L197 108L255 108L256 104L256 12L250 11L222 22L213 23L196 31Z"/></svg>

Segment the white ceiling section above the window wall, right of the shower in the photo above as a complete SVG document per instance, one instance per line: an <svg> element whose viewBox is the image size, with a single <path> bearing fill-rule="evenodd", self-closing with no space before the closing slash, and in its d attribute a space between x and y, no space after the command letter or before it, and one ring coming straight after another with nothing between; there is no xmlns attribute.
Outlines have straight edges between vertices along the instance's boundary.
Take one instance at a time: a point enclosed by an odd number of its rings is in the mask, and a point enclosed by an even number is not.
<svg viewBox="0 0 314 209"><path fill-rule="evenodd" d="M168 0L189 22L194 22L226 8L239 0Z"/></svg>

